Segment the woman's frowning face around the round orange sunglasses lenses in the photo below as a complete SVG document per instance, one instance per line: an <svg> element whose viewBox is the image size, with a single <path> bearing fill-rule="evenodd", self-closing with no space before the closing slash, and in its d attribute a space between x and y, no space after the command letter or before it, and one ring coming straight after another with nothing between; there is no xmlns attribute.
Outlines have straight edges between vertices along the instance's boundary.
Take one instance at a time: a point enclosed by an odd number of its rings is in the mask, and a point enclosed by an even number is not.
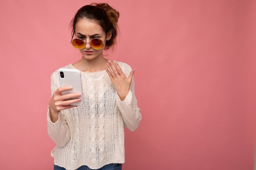
<svg viewBox="0 0 256 170"><path fill-rule="evenodd" d="M92 60L96 57L103 56L102 53L106 45L106 40L110 39L110 37L107 37L105 40L106 33L97 22L95 22L94 20L86 19L80 19L76 23L75 36L76 38L79 38L86 42L85 48L79 49L79 51L87 60ZM104 46L102 49L95 50L91 47L90 41L93 38L99 38L104 42Z"/></svg>

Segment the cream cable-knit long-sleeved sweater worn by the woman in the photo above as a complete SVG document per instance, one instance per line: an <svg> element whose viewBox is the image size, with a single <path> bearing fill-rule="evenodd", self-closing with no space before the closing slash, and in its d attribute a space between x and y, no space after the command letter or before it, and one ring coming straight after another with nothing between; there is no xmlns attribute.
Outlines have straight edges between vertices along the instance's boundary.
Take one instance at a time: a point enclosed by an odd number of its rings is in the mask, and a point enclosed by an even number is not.
<svg viewBox="0 0 256 170"><path fill-rule="evenodd" d="M128 77L132 68L124 62L117 64ZM72 64L62 68L76 69ZM47 107L47 132L56 144L51 151L54 164L76 170L83 165L99 169L110 163L124 163L124 127L134 131L141 121L133 77L124 101L119 98L106 70L81 71L81 79L83 106L61 110L55 123ZM59 87L56 70L51 75L51 95Z"/></svg>

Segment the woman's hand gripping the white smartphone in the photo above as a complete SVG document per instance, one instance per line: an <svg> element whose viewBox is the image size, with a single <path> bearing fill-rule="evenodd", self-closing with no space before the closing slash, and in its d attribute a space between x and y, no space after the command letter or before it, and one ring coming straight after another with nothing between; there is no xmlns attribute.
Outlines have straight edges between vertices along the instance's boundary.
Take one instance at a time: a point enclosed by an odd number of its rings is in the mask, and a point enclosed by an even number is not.
<svg viewBox="0 0 256 170"><path fill-rule="evenodd" d="M65 110L65 109L68 109L68 108L76 107L76 106L73 106L73 105L70 105L70 104L72 104L74 102L79 102L81 100L81 98L65 100L65 99L70 99L72 97L81 96L81 93L68 93L68 94L65 94L65 95L61 95L61 92L72 89L72 87L71 88L70 87L71 86L59 87L56 91L54 91L54 93L53 93L53 95L50 99L49 110L50 110L51 116L55 117L55 119L57 118L57 120L58 120L59 111Z"/></svg>

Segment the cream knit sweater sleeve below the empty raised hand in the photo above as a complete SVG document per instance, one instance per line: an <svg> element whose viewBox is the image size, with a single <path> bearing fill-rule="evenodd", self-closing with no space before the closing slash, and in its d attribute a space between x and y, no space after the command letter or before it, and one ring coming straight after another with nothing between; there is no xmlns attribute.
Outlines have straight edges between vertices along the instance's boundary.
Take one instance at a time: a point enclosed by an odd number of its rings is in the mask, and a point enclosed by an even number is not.
<svg viewBox="0 0 256 170"><path fill-rule="evenodd" d="M130 68L128 73L130 73L131 70L132 69ZM121 111L121 115L124 120L124 127L128 128L130 131L136 130L141 121L141 113L140 113L140 108L137 106L137 99L135 97L134 86L135 84L132 76L132 83L130 86L129 93L123 101L121 101L116 91L117 106Z"/></svg>

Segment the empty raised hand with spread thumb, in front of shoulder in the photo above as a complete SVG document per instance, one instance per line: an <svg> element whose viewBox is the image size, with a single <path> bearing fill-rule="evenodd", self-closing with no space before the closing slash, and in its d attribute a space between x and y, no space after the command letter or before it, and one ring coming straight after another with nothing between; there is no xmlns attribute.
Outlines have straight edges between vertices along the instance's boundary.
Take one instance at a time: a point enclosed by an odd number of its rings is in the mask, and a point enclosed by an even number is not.
<svg viewBox="0 0 256 170"><path fill-rule="evenodd" d="M111 79L111 82L113 83L119 98L121 101L123 101L129 93L132 76L135 69L130 72L130 75L127 78L120 66L115 61L112 62L109 60L107 66L108 68L106 68L106 71Z"/></svg>

